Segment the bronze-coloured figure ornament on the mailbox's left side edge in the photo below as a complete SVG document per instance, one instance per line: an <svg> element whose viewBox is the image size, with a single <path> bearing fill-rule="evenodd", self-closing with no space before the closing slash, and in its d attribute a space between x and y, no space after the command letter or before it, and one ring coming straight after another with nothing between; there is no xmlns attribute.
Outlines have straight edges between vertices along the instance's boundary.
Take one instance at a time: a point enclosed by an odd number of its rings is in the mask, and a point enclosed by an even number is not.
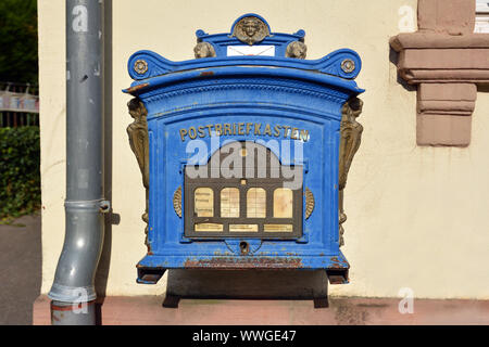
<svg viewBox="0 0 489 347"><path fill-rule="evenodd" d="M142 185L146 189L146 209L141 218L146 222L146 240L148 243L148 204L149 204L149 137L148 137L148 123L146 117L148 111L145 104L138 99L134 98L127 103L129 114L134 118L134 121L127 127L127 134L129 136L129 144L136 159L138 160L139 169L142 175Z"/></svg>

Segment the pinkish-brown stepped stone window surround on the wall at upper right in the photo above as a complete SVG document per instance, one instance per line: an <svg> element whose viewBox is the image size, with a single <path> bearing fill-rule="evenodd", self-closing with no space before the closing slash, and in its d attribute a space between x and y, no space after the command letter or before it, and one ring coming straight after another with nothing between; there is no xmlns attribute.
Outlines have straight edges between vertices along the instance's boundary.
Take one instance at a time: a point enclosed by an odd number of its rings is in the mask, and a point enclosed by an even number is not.
<svg viewBox="0 0 489 347"><path fill-rule="evenodd" d="M475 1L418 0L418 31L390 39L398 73L417 87L418 145L467 146L477 86L489 82L489 34L474 34Z"/></svg>

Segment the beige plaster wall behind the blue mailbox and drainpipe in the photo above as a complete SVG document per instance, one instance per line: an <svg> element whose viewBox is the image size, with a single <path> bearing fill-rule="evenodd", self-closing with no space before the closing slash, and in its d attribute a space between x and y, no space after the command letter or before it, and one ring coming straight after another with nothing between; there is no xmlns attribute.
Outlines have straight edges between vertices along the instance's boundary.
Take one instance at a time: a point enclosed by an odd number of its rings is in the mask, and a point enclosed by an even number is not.
<svg viewBox="0 0 489 347"><path fill-rule="evenodd" d="M403 7L404 8L401 8ZM405 5L408 8L405 8ZM412 13L409 9L412 9ZM401 9L401 10L400 10ZM306 31L308 57L343 47L359 52L365 88L362 146L346 190L346 245L351 283L333 295L489 299L489 94L478 93L466 149L416 146L416 94L397 81L389 38L399 23L415 25L415 0L115 0L113 1L112 226L103 260L108 295L161 294L135 282L145 255L140 215L145 192L126 126L121 90L130 83L129 55L153 50L170 60L192 59L196 29L228 31L248 12L273 31ZM410 13L412 16L410 16ZM413 22L414 21L414 22ZM412 28L414 30L414 27ZM64 237L64 1L39 0L42 172L42 293L53 281ZM100 277L99 277L100 278ZM100 286L99 281L99 286ZM102 287L105 283L102 283Z"/></svg>

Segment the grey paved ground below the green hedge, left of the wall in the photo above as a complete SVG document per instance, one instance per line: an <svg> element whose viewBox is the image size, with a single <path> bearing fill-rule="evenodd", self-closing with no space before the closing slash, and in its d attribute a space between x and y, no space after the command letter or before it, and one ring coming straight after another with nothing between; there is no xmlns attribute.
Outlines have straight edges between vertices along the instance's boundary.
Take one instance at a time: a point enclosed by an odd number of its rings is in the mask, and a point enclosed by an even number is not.
<svg viewBox="0 0 489 347"><path fill-rule="evenodd" d="M40 216L0 226L0 325L33 324L33 304L41 284L40 227Z"/></svg>

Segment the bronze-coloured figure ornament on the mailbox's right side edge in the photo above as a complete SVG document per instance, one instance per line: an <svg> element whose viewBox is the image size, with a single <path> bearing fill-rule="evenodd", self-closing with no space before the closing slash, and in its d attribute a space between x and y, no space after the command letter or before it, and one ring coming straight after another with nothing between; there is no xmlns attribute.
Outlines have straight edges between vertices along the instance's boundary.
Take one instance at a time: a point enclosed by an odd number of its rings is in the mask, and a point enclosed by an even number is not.
<svg viewBox="0 0 489 347"><path fill-rule="evenodd" d="M353 98L347 101L341 110L340 151L339 151L339 234L340 246L344 244L342 223L347 220L343 209L343 190L347 185L348 171L362 140L363 127L356 121L362 113L363 101Z"/></svg>

